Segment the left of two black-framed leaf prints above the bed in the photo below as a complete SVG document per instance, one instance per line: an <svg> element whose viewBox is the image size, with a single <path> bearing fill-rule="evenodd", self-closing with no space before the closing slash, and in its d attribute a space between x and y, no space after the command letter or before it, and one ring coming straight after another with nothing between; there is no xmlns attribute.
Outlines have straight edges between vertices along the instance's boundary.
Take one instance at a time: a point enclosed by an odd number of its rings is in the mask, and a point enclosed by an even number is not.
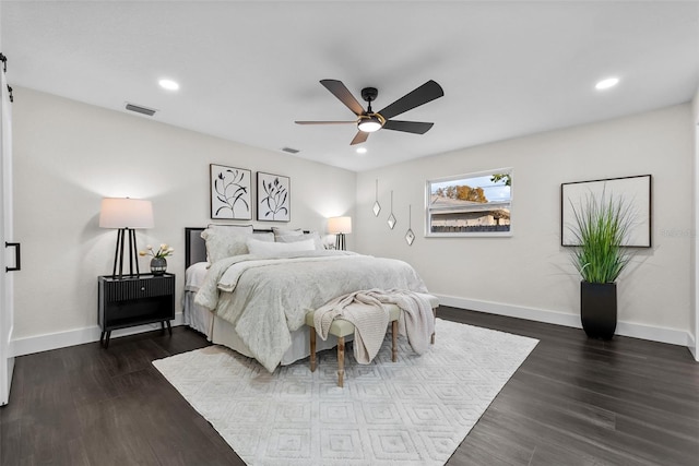
<svg viewBox="0 0 699 466"><path fill-rule="evenodd" d="M211 218L251 220L250 170L211 164Z"/></svg>

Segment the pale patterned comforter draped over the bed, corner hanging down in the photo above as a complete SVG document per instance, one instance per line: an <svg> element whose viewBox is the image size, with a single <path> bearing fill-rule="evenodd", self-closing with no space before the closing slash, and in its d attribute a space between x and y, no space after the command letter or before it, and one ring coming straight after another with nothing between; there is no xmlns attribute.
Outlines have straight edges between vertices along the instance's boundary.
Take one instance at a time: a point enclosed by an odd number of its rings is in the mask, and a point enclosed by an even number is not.
<svg viewBox="0 0 699 466"><path fill-rule="evenodd" d="M426 292L407 263L344 251L279 256L238 255L211 265L196 302L230 322L270 372L304 325L308 311L362 289Z"/></svg>

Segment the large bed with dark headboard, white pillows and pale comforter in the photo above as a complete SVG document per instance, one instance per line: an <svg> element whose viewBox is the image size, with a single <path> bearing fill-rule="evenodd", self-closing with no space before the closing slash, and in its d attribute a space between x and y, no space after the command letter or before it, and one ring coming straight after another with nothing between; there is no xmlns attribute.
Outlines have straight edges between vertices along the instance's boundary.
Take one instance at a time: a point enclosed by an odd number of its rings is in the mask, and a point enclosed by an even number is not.
<svg viewBox="0 0 699 466"><path fill-rule="evenodd" d="M248 239L254 235L264 241L285 242L275 236L279 231L247 228L241 236ZM206 240L204 236L210 234ZM245 250L246 253L238 254L241 252L236 249L238 244L233 249L226 246L227 253L218 251L211 258L214 247L221 246L214 242L211 232L211 226L185 229L183 321L212 343L256 358L270 371L277 365L291 365L309 356L309 327L304 324L305 314L331 298L377 287L427 291L417 273L402 261L324 251L319 238L315 240L312 251L266 255L258 250L254 254ZM304 238L311 236L308 231L296 235L299 235L298 241L293 239L293 242L298 244L308 243ZM250 250L253 243L256 248L262 246L259 242L248 241ZM213 260L209 262L208 259ZM319 340L317 349L334 346L336 338L331 336Z"/></svg>

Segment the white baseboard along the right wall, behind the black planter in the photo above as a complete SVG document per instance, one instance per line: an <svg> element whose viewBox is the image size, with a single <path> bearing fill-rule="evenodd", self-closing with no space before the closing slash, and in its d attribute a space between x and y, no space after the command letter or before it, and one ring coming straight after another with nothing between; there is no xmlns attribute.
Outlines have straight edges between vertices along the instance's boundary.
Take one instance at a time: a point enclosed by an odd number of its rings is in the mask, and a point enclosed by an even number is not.
<svg viewBox="0 0 699 466"><path fill-rule="evenodd" d="M469 309L472 311L488 312L490 314L497 315L507 315L510 318L525 319L529 321L565 325L574 328L582 328L579 315L565 314L546 309L524 308L521 306L503 304L500 302L479 301L474 299L459 298L454 296L435 296L439 298L439 303L443 306ZM616 335L649 339L652 342L670 343L672 345L687 346L690 351L692 350L692 348L695 348L694 338L691 337L691 335L688 332L683 332L679 330L655 327L630 322L617 322ZM697 356L695 355L695 359L696 358Z"/></svg>

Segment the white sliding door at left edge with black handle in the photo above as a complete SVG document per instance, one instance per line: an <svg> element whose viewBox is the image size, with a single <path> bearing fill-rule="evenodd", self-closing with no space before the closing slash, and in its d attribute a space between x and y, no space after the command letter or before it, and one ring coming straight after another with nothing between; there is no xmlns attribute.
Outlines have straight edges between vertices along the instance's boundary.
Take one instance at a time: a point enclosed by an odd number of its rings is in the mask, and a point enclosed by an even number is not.
<svg viewBox="0 0 699 466"><path fill-rule="evenodd" d="M10 339L14 318L12 270L19 267L19 244L12 243L12 117L10 94L0 62L0 405L10 397L14 358L10 354ZM10 242L10 244L8 244ZM9 246L9 247L8 247Z"/></svg>

